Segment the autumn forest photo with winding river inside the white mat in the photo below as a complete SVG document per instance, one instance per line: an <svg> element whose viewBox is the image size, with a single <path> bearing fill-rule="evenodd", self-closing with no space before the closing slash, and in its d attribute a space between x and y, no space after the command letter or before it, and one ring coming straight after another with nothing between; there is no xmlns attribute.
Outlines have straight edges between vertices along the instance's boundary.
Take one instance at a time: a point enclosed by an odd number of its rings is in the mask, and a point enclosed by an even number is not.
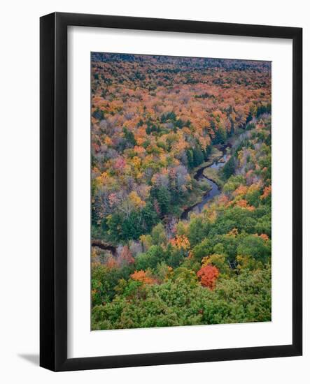
<svg viewBox="0 0 310 384"><path fill-rule="evenodd" d="M92 330L271 321L271 62L90 64Z"/></svg>

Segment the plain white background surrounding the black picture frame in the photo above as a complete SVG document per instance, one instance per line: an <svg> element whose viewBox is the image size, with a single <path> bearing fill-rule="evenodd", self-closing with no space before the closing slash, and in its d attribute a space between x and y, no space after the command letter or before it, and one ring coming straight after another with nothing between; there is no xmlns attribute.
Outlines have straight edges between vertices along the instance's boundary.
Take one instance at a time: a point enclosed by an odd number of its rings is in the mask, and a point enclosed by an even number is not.
<svg viewBox="0 0 310 384"><path fill-rule="evenodd" d="M57 11L304 28L304 196L309 190L309 1L14 1L1 5L0 380L3 383L308 383L309 202L304 201L304 356L53 374L38 367L38 17ZM308 236L307 236L308 235ZM308 238L307 238L308 237Z"/></svg>

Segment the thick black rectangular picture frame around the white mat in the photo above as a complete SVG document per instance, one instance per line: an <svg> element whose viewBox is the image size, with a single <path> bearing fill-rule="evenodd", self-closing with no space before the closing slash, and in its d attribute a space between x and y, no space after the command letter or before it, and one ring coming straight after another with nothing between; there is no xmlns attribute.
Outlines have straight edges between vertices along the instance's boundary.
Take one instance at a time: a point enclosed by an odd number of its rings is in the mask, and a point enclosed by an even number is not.
<svg viewBox="0 0 310 384"><path fill-rule="evenodd" d="M67 27L108 27L293 40L293 343L139 355L67 357ZM302 29L52 13L41 17L40 365L52 371L302 355Z"/></svg>

